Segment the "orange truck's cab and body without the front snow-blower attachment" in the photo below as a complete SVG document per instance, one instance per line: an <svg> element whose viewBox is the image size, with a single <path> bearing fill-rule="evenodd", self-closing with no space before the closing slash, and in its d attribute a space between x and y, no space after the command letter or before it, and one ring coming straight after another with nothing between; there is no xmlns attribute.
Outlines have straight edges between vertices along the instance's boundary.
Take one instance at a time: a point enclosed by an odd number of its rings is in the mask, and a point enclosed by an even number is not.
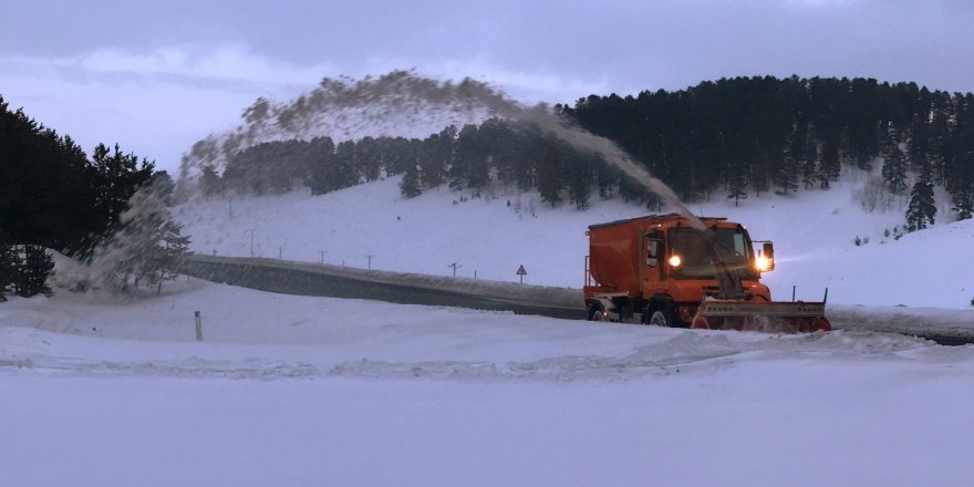
<svg viewBox="0 0 974 487"><path fill-rule="evenodd" d="M651 215L592 225L587 234L590 320L687 327L708 298L770 301L760 273L773 269L774 247L756 251L747 229L726 218Z"/></svg>

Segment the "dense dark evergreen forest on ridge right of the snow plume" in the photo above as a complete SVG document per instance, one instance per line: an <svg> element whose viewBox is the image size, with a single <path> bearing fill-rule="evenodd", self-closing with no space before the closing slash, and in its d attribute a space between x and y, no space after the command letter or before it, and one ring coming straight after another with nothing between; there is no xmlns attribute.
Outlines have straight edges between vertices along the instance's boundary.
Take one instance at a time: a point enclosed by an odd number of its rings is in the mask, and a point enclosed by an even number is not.
<svg viewBox="0 0 974 487"><path fill-rule="evenodd" d="M842 164L870 169L882 156L898 193L929 162L931 182L950 186L962 208L968 185L952 176L963 172L959 142L972 138L959 136L967 97L871 79L757 76L636 97L592 95L561 112L619 143L688 200L715 189L737 199L752 190L828 188Z"/></svg>

